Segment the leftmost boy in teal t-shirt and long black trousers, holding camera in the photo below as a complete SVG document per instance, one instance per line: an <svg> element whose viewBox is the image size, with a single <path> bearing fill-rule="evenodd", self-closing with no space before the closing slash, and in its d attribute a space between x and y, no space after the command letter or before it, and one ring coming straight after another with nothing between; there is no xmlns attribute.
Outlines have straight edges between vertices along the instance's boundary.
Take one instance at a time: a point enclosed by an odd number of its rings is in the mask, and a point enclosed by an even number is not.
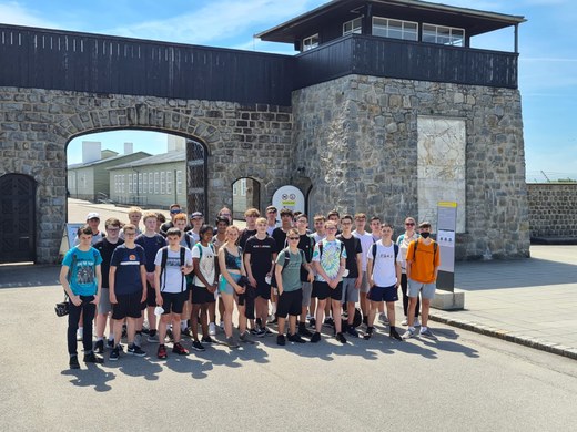
<svg viewBox="0 0 577 432"><path fill-rule="evenodd" d="M77 330L82 315L84 331L82 344L84 347L84 362L102 363L100 357L92 351L92 320L100 299L102 277L100 253L91 246L92 229L89 225L78 229L79 245L70 249L62 260L60 284L69 296L68 315L68 353L70 368L79 369Z"/></svg>

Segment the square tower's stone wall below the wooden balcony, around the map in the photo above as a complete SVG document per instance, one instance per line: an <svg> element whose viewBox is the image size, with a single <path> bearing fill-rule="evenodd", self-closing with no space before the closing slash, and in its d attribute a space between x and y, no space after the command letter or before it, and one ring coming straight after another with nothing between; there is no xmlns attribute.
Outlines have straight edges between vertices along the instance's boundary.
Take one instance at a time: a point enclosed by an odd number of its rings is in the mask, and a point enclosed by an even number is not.
<svg viewBox="0 0 577 432"><path fill-rule="evenodd" d="M418 117L463 119L466 219L456 257L528 256L518 91L348 75L294 92L293 113L295 168L304 168L295 183L313 185L310 213L379 215L396 234L419 214Z"/></svg>

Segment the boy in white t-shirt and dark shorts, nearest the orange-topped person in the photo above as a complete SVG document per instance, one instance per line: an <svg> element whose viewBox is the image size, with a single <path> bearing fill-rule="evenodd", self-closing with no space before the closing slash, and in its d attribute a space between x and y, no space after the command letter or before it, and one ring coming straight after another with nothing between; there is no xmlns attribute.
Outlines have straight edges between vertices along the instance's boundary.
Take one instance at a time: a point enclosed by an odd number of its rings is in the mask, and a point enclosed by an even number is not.
<svg viewBox="0 0 577 432"><path fill-rule="evenodd" d="M393 227L389 224L381 226L381 239L376 241L366 255L366 274L371 287L367 298L371 300L365 339L371 339L374 332L373 322L382 301L386 302L391 338L403 340L395 328L395 301L398 300L401 284L401 261L398 246L393 243Z"/></svg>

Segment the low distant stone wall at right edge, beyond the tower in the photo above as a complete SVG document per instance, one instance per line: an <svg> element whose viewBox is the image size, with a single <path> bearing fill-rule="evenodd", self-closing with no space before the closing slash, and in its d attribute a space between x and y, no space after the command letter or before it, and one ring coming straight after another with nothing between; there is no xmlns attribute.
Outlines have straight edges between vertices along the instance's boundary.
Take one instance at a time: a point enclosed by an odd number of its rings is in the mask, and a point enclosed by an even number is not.
<svg viewBox="0 0 577 432"><path fill-rule="evenodd" d="M577 238L577 183L528 183L532 238Z"/></svg>

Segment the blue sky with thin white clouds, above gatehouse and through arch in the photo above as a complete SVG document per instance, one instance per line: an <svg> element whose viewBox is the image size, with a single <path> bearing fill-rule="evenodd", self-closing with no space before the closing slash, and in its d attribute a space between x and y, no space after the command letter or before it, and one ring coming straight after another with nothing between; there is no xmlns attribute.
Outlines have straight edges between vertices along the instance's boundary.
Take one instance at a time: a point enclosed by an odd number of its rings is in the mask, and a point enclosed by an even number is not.
<svg viewBox="0 0 577 432"><path fill-rule="evenodd" d="M288 44L252 35L325 3L326 0L0 0L0 21L10 24L114 34L170 42L293 53ZM527 181L577 178L577 1L444 0L443 3L524 16L519 28ZM513 51L513 29L474 39L474 47ZM121 152L122 143L151 153L165 138L130 132L84 136ZM146 142L143 142L146 140ZM71 143L69 162L80 162Z"/></svg>

